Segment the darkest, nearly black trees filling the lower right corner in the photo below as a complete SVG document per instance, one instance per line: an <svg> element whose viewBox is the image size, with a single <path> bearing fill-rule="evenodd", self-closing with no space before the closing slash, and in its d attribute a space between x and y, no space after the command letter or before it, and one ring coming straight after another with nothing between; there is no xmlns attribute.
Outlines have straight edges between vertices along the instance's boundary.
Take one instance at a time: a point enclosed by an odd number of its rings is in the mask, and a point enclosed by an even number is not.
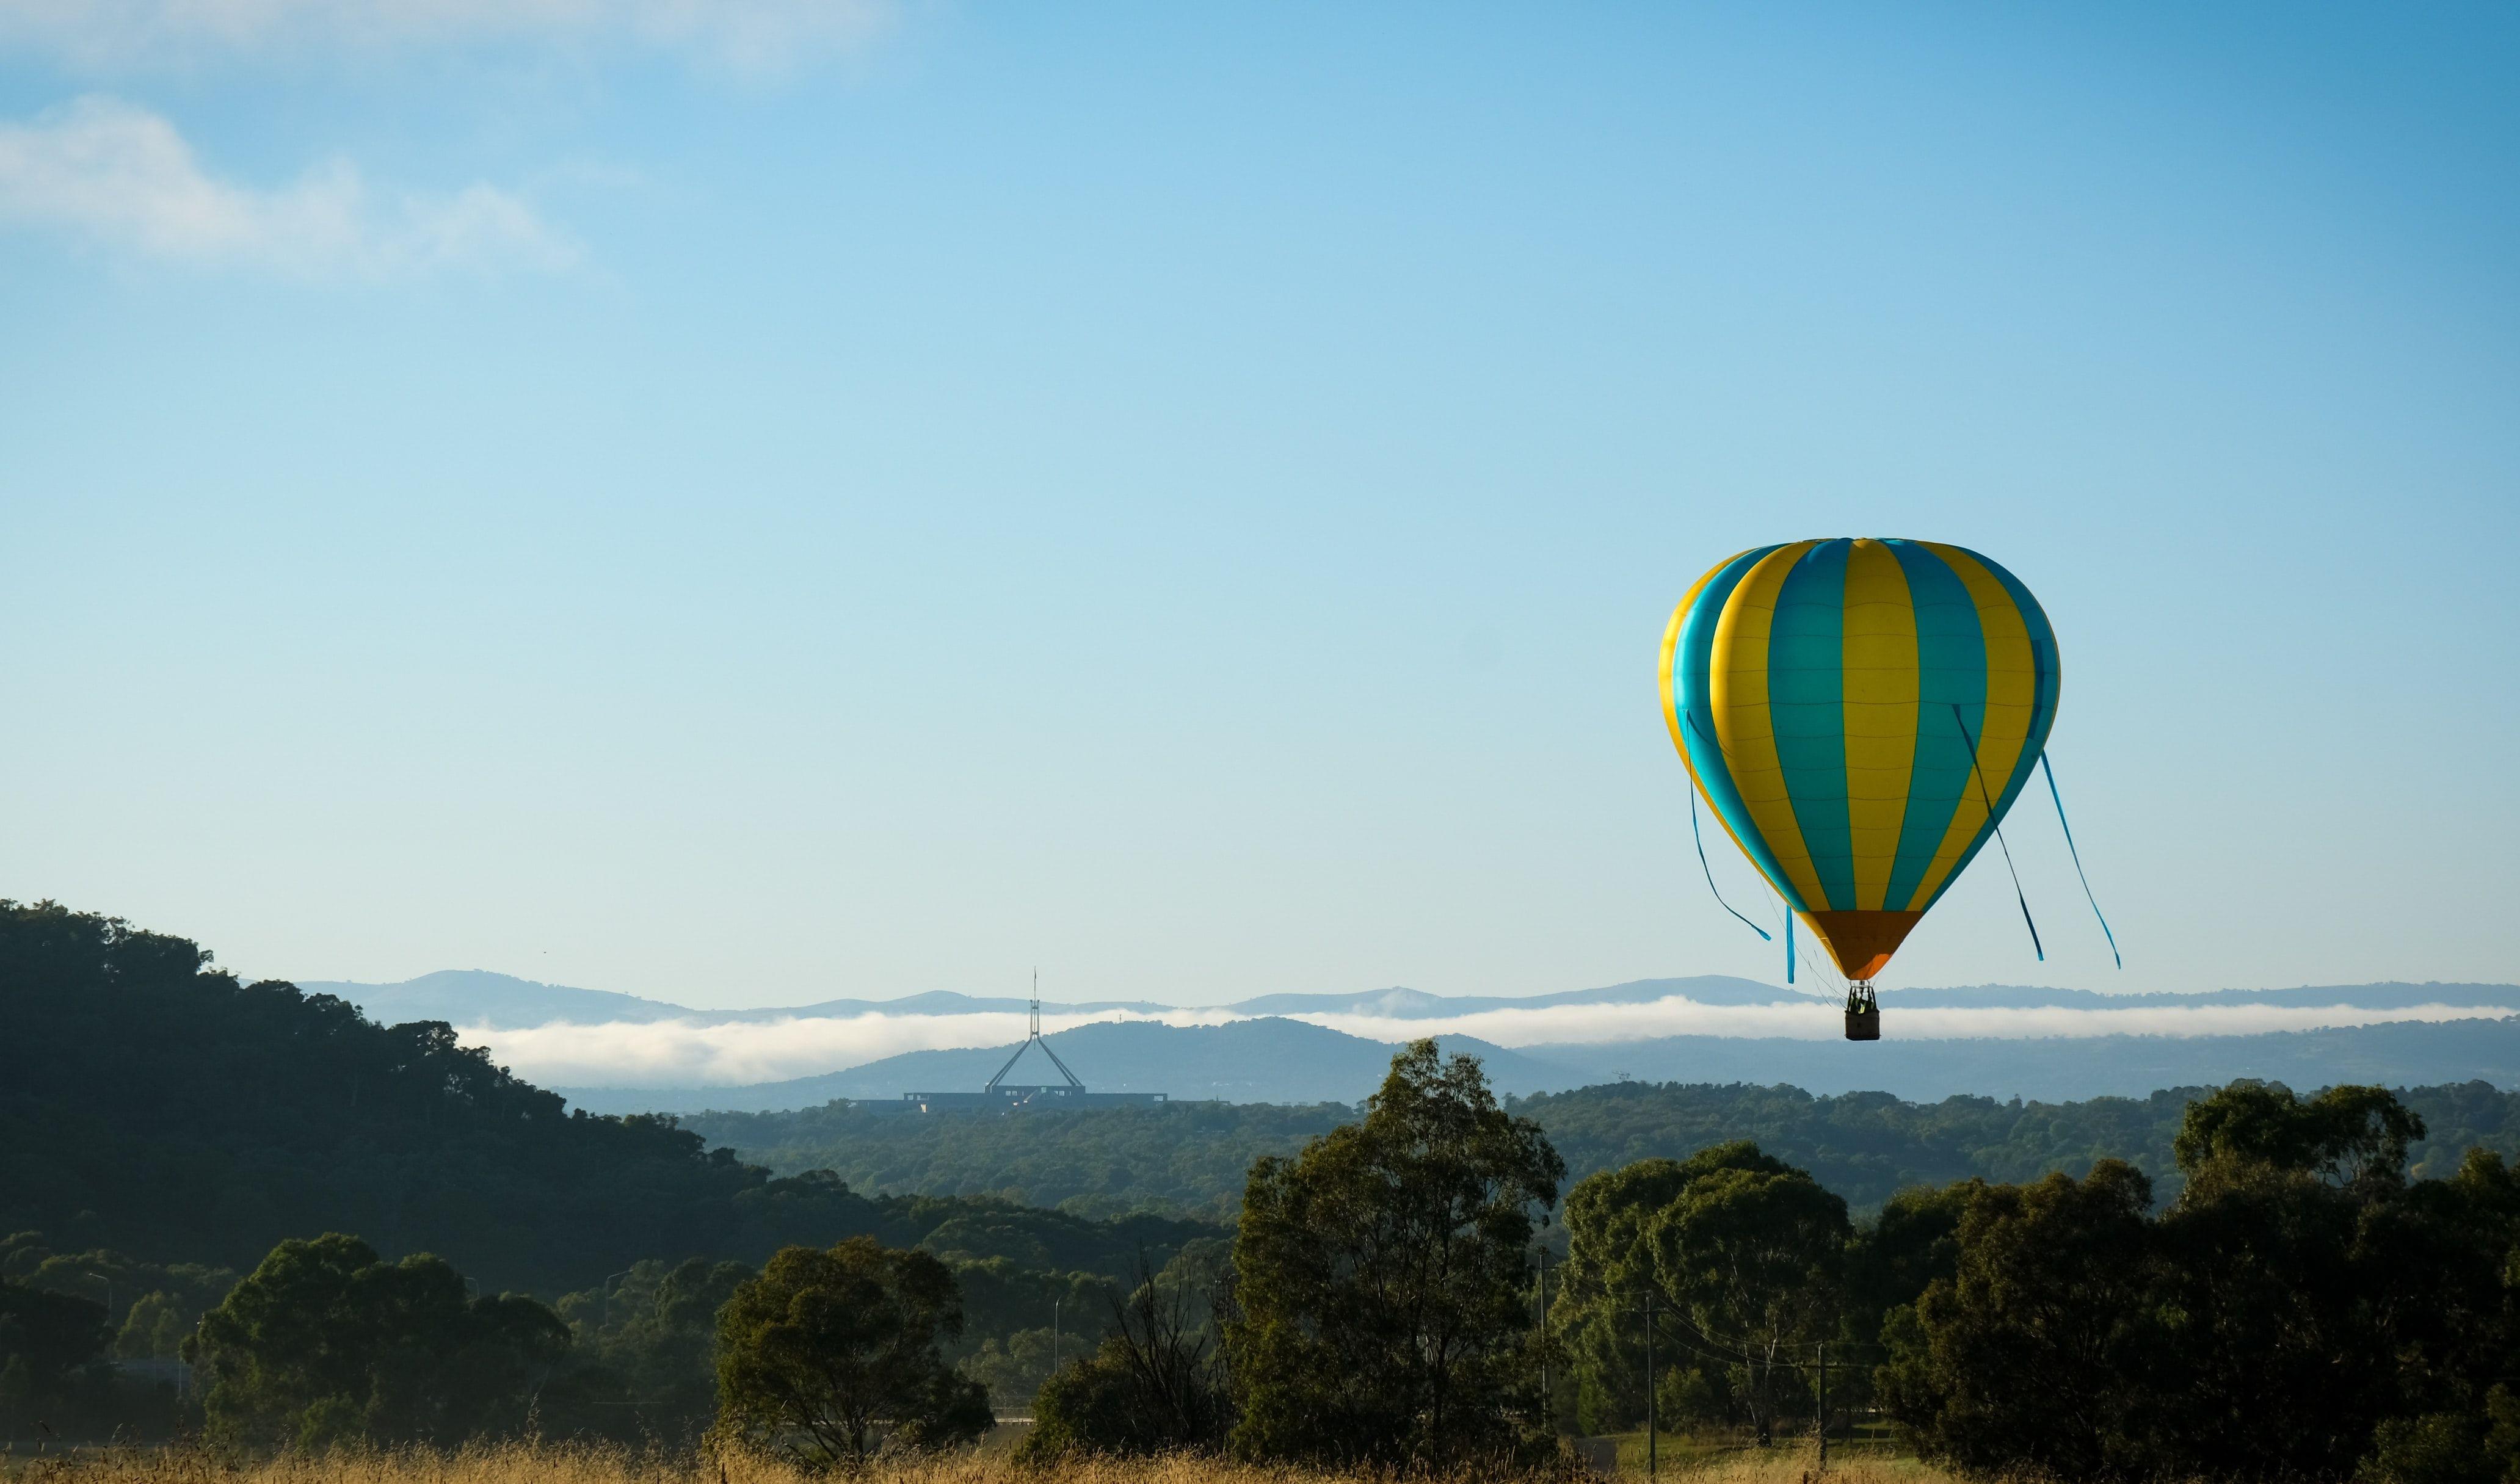
<svg viewBox="0 0 2520 1484"><path fill-rule="evenodd" d="M2160 1214L2119 1164L1945 1192L1948 1272L1887 1310L1882 1403L1973 1474L2502 1476L2520 1172L2475 1149L2409 1184L2424 1134L2379 1088L2233 1083L2190 1109Z"/></svg>

